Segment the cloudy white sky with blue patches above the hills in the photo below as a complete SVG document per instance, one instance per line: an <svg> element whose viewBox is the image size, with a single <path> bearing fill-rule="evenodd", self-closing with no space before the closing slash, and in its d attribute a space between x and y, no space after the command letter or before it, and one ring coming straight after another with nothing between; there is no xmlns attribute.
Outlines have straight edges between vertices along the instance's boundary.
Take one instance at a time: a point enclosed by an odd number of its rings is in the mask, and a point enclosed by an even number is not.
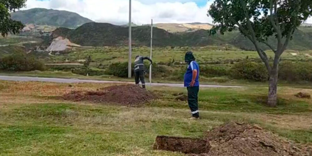
<svg viewBox="0 0 312 156"><path fill-rule="evenodd" d="M150 23L212 23L207 10L213 0L132 0L132 21ZM125 24L129 20L129 0L27 0L27 7L66 10L95 22ZM312 23L310 18L308 23Z"/></svg>

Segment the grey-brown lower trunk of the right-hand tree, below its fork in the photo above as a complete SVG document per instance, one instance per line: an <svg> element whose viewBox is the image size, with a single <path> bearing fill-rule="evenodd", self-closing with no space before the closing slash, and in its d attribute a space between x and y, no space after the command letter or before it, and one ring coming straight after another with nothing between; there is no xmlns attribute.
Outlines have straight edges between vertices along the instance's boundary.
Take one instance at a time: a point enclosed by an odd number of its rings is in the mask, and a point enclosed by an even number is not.
<svg viewBox="0 0 312 156"><path fill-rule="evenodd" d="M277 106L277 76L278 76L278 68L277 66L273 66L273 69L270 72L269 79L269 95L268 95L268 105L270 107Z"/></svg>

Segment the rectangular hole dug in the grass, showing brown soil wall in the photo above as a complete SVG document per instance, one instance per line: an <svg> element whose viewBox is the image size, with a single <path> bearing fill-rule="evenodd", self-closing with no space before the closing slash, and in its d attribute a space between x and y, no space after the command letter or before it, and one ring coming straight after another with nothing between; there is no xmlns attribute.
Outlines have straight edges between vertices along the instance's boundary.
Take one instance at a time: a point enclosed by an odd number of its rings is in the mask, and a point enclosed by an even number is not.
<svg viewBox="0 0 312 156"><path fill-rule="evenodd" d="M208 153L210 144L207 139L157 136L155 150L178 151L185 154Z"/></svg>

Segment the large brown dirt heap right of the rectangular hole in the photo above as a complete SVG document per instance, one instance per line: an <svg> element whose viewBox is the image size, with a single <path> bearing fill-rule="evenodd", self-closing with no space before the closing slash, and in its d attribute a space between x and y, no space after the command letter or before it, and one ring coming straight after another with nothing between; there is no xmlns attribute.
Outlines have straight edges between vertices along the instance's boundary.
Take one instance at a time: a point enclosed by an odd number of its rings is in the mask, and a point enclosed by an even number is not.
<svg viewBox="0 0 312 156"><path fill-rule="evenodd" d="M261 127L230 122L207 133L211 156L312 155L308 146L295 144Z"/></svg>

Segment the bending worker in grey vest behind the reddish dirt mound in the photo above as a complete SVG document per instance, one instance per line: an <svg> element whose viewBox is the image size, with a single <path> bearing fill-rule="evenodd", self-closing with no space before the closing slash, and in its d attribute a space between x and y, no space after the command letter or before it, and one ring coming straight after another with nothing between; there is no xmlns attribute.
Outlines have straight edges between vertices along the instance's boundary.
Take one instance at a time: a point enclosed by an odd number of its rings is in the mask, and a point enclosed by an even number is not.
<svg viewBox="0 0 312 156"><path fill-rule="evenodd" d="M135 85L139 85L141 80L142 88L145 89L145 80L144 80L144 60L149 60L151 64L153 61L149 57L145 56L135 56L134 60L134 76L135 76Z"/></svg>

